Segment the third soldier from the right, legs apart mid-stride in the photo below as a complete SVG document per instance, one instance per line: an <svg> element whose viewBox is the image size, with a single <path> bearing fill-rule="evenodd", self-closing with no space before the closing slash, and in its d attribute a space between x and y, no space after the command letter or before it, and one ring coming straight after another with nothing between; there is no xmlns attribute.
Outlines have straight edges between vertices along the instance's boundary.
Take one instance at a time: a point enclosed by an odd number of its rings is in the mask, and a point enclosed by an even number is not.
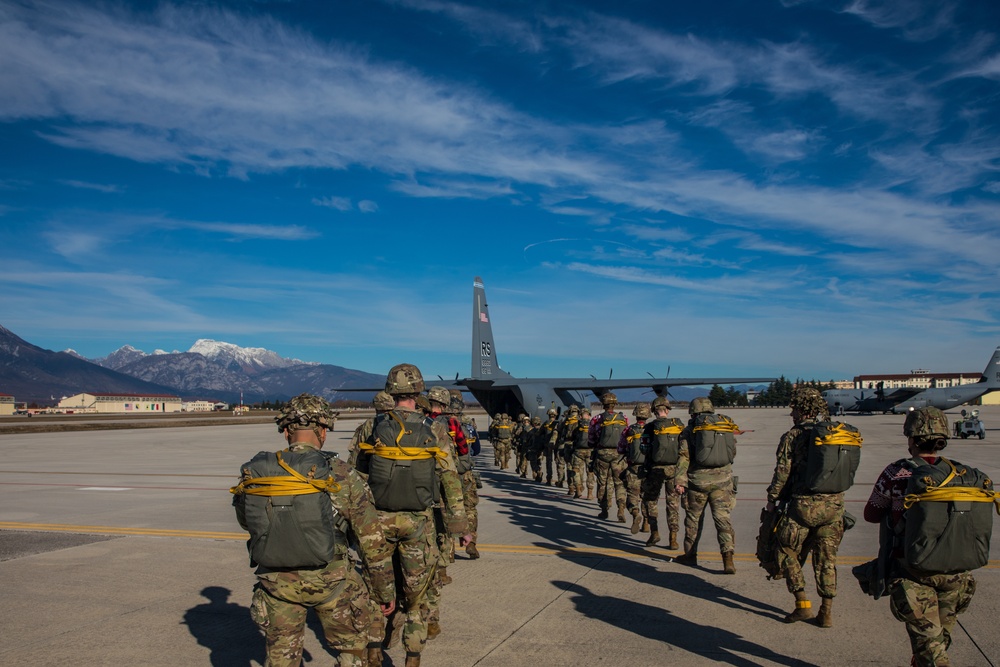
<svg viewBox="0 0 1000 667"><path fill-rule="evenodd" d="M736 534L732 513L736 506L733 459L736 457L738 427L725 415L716 415L712 402L700 396L688 406L691 419L680 435L687 447L690 464L687 476L678 474L677 486L687 489L684 516L684 553L674 558L681 565L698 564L698 538L705 506L711 505L712 519L722 553L723 572L736 574L733 553Z"/></svg>

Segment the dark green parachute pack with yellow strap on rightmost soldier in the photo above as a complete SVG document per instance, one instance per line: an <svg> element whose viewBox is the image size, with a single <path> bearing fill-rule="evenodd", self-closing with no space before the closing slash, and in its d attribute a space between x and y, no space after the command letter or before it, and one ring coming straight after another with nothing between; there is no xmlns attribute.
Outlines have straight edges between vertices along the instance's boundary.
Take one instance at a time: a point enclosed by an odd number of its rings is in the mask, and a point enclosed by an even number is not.
<svg viewBox="0 0 1000 667"><path fill-rule="evenodd" d="M903 554L910 568L951 574L983 567L990 559L993 513L1000 499L993 482L972 466L941 457L919 463L906 485Z"/></svg>

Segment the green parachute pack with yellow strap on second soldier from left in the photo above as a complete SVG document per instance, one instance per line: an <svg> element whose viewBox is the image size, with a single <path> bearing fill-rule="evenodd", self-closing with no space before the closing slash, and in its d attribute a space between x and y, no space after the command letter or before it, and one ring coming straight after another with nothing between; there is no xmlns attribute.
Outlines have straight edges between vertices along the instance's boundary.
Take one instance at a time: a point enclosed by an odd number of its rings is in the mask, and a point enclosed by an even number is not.
<svg viewBox="0 0 1000 667"><path fill-rule="evenodd" d="M437 458L446 454L437 447L429 419L410 411L390 410L379 415L372 437L362 450L372 454L368 486L376 508L383 512L421 512L437 504Z"/></svg>

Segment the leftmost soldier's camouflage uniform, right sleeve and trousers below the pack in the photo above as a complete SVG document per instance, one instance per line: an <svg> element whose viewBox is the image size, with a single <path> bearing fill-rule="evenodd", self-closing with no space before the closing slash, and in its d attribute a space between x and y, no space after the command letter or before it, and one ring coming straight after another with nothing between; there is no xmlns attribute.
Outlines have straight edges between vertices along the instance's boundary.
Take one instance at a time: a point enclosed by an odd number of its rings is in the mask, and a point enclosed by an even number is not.
<svg viewBox="0 0 1000 667"><path fill-rule="evenodd" d="M289 447L300 451L311 445ZM364 559L371 594L381 603L395 599L391 545L379 522L371 491L346 463L331 459L333 478L340 489L330 499L347 519ZM251 603L251 616L267 642L266 667L298 667L306 614L316 610L326 641L340 651L341 665L362 665L361 655L369 645L369 630L377 620L377 605L369 599L369 586L354 569L344 551L325 567L309 570L270 571L257 568L258 583ZM378 613L381 616L380 613ZM347 651L350 651L348 653Z"/></svg>

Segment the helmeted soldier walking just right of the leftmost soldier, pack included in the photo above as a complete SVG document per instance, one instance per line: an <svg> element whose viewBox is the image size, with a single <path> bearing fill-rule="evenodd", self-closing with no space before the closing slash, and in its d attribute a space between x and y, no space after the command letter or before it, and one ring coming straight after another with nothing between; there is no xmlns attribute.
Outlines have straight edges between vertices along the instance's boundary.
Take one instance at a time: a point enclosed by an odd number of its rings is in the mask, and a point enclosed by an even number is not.
<svg viewBox="0 0 1000 667"><path fill-rule="evenodd" d="M423 389L424 380L416 366L399 364L390 369L385 391L396 406L375 421L372 436L358 457L358 466L368 471L386 539L394 546L405 609L397 611L392 622L398 625L398 615L405 612L405 667L419 667L427 643L426 594L440 558L434 520L439 499L444 501L443 520L449 534L461 536L462 544L471 540L466 534L454 442L444 426L417 411L417 397ZM399 465L400 461L407 465Z"/></svg>

